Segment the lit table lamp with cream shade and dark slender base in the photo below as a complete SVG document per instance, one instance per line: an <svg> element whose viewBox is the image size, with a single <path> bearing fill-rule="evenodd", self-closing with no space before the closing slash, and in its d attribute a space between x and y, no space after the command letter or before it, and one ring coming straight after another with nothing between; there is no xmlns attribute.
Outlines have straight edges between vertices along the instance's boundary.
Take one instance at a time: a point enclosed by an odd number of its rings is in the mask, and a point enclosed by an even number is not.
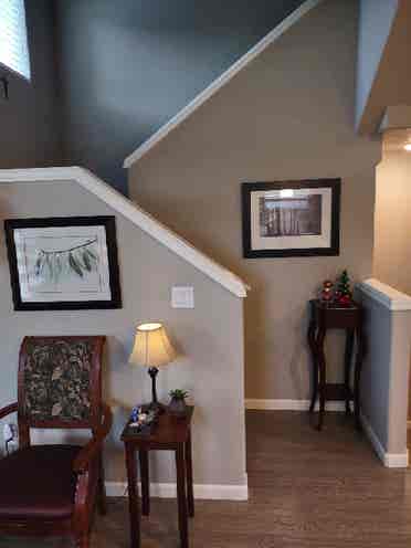
<svg viewBox="0 0 411 548"><path fill-rule="evenodd" d="M149 409L162 411L164 405L157 400L156 377L158 368L173 361L173 349L162 324L141 324L137 327L129 363L148 367L151 377L151 403Z"/></svg>

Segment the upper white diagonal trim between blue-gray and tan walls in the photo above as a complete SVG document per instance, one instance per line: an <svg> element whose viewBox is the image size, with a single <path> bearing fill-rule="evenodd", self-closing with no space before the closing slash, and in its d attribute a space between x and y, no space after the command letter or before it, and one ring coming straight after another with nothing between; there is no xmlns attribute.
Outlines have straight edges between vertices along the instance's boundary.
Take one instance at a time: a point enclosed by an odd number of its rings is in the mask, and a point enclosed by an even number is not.
<svg viewBox="0 0 411 548"><path fill-rule="evenodd" d="M203 92L194 97L188 105L186 105L176 116L173 116L167 124L158 129L151 137L149 137L143 145L140 145L133 154L124 160L124 167L129 168L133 164L138 161L151 148L160 143L167 135L172 131L177 126L185 122L192 115L201 105L203 105L210 97L212 97L219 89L226 85L240 71L245 68L255 57L263 53L272 43L278 40L288 29L297 23L304 15L306 15L314 8L319 6L323 0L306 0L299 8L285 18L277 27L275 27L268 34L266 34L260 42L257 42L251 50L249 50L242 57L233 63L230 68L223 72L217 80L214 80Z"/></svg>

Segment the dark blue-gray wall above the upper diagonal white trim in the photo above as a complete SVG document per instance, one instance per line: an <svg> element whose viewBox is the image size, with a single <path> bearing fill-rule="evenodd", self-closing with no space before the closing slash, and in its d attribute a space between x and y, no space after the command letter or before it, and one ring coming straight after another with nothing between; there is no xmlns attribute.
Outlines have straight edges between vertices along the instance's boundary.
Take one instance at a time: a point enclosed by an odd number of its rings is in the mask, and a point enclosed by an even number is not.
<svg viewBox="0 0 411 548"><path fill-rule="evenodd" d="M56 0L63 151L126 191L123 160L303 0Z"/></svg>

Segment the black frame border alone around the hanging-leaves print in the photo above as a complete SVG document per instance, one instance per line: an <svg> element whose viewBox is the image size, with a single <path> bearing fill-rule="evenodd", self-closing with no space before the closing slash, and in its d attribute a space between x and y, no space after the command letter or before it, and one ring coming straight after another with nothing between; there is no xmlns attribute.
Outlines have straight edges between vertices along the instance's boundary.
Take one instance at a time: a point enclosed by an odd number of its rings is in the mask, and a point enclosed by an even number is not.
<svg viewBox="0 0 411 548"><path fill-rule="evenodd" d="M24 302L21 296L18 257L14 244L14 230L64 226L103 225L106 235L110 299L108 301L53 301ZM122 308L122 291L116 238L116 219L114 215L98 217L52 217L39 219L12 219L4 221L6 243L9 259L10 284L14 310L84 310Z"/></svg>

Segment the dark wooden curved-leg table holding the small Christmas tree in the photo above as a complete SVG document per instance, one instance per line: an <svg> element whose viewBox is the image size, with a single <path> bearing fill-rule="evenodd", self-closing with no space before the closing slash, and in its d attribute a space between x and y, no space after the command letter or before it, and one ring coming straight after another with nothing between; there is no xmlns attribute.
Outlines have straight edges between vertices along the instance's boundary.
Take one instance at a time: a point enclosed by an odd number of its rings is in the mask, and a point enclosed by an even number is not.
<svg viewBox="0 0 411 548"><path fill-rule="evenodd" d="M360 422L360 377L362 361L366 355L366 339L363 334L363 310L354 303L350 307L324 305L320 301L309 302L310 322L308 327L308 345L313 356L313 397L309 412L319 394L319 413L317 429L322 430L326 400L342 400L346 402L346 413L350 413L350 401L354 401L356 426L361 429ZM326 357L324 342L328 329L346 330L345 380L340 384L327 382ZM354 370L354 389L350 387L351 361L354 342L357 339L357 352Z"/></svg>

